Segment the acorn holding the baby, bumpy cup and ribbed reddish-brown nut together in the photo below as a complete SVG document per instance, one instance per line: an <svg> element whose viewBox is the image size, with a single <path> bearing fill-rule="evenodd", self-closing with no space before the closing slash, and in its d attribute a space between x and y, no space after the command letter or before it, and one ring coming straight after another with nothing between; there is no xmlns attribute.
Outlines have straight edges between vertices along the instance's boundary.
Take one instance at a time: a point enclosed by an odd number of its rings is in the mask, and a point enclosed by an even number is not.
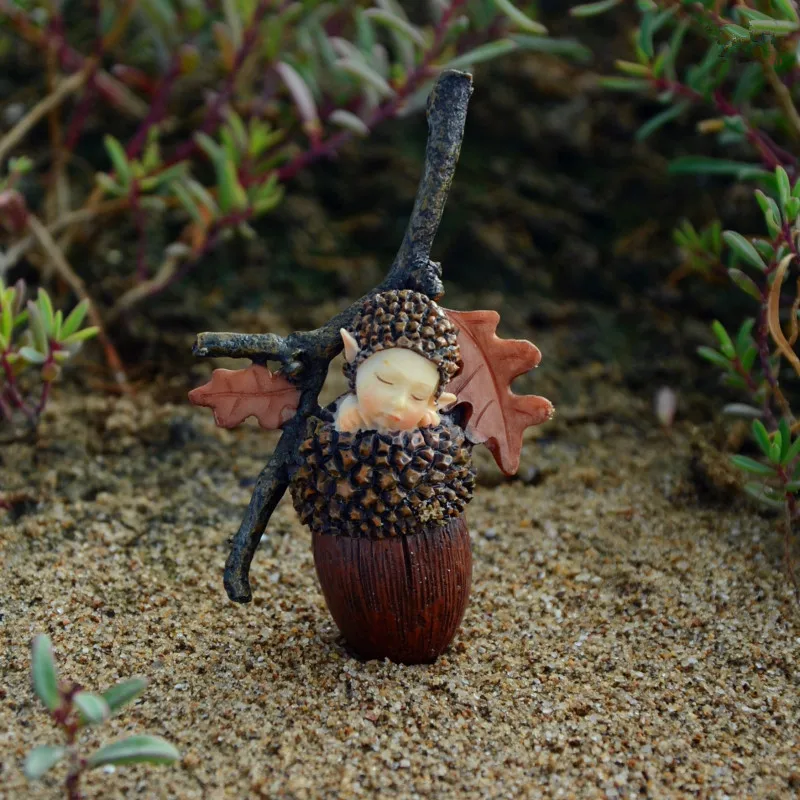
<svg viewBox="0 0 800 800"><path fill-rule="evenodd" d="M292 498L339 630L362 658L435 661L471 585L463 512L475 472L463 431L345 433L312 418L308 433Z"/></svg>

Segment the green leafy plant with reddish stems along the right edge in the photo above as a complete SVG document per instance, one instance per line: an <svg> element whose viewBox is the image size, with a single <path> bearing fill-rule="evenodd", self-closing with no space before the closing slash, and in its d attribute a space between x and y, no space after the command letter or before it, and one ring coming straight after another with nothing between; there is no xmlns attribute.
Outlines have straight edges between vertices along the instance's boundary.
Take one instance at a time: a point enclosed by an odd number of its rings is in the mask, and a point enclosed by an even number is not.
<svg viewBox="0 0 800 800"><path fill-rule="evenodd" d="M591 16L617 5L617 0L584 4L572 13ZM800 600L790 555L792 526L800 516L800 424L781 388L800 375L794 350L800 282L791 301L781 294L790 276L800 276L800 169L794 154L800 139L795 102L800 14L792 0L637 0L636 5L641 23L633 42L635 60L617 61L621 75L601 83L649 94L664 106L637 138L690 113L710 111L698 130L715 135L722 147L755 157L686 155L669 169L675 175L727 176L758 184L755 197L767 235L723 231L715 220L701 231L685 221L674 238L683 257L681 276L730 280L753 301L753 316L738 324L735 335L715 321L718 347L700 347L699 354L722 370L727 386L749 397L748 403L729 404L726 411L754 418L752 436L762 458L737 454L732 462L748 476L750 495L784 512L786 564ZM704 51L699 60L685 55L689 39L696 48L691 52Z"/></svg>

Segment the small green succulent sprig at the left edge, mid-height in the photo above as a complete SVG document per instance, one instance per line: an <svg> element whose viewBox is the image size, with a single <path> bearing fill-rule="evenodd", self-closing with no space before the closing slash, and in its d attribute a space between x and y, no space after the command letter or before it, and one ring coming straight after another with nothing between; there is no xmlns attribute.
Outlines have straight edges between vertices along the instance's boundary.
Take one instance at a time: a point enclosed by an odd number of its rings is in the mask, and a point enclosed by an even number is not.
<svg viewBox="0 0 800 800"><path fill-rule="evenodd" d="M87 311L85 300L66 316L55 311L44 289L26 303L23 281L0 280L0 422L20 415L36 426L61 365L98 332L82 327Z"/></svg>

